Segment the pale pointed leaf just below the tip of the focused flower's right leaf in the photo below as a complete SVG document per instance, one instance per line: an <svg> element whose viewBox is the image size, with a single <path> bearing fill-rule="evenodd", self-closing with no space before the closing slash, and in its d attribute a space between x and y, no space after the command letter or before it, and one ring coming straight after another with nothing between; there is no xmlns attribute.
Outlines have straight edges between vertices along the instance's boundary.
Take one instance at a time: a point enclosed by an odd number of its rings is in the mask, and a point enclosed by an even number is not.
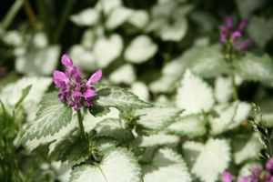
<svg viewBox="0 0 273 182"><path fill-rule="evenodd" d="M157 134L175 122L182 111L175 107L154 107L136 110L135 116L140 116L140 119L136 121L136 133L140 136Z"/></svg>

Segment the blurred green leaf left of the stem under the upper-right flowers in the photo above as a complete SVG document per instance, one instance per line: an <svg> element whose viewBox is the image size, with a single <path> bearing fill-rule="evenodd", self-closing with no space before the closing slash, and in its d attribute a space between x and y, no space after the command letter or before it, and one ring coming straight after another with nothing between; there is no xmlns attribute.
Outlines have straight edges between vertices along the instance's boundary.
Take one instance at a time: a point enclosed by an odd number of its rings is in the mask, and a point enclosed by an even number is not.
<svg viewBox="0 0 273 182"><path fill-rule="evenodd" d="M187 64L197 76L215 77L224 73L228 67L219 45L205 46Z"/></svg>

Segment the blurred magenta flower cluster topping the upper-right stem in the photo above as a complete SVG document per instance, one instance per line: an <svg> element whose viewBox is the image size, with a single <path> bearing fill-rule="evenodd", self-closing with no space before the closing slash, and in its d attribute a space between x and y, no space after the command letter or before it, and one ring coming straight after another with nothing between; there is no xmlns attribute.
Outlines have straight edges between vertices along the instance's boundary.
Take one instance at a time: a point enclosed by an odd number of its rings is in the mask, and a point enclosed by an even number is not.
<svg viewBox="0 0 273 182"><path fill-rule="evenodd" d="M233 31L233 18L229 15L225 17L225 22L227 23L227 26L225 25L219 25L218 28L220 29L221 35L219 38L219 41L224 43L227 42L227 40L230 38L232 45L238 45L238 39L243 35L244 28L249 24L248 20L242 20L240 24L238 25L238 29ZM248 47L248 44L251 43L251 39L246 39L241 43L241 50L249 51L250 48Z"/></svg>

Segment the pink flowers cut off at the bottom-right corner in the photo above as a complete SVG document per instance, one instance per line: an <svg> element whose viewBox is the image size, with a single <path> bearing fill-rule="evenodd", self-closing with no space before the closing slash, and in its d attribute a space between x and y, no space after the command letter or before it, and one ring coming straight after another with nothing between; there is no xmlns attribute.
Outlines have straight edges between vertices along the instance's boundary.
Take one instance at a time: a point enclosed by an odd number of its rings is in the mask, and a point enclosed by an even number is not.
<svg viewBox="0 0 273 182"><path fill-rule="evenodd" d="M270 158L266 164L266 171L261 172L260 167L252 168L252 170L265 182L273 182L273 158ZM225 182L231 182L232 175L228 172L225 172L221 176ZM258 177L255 177L252 173L248 177L240 177L238 182L248 182L248 179L251 179L251 182L258 182Z"/></svg>

